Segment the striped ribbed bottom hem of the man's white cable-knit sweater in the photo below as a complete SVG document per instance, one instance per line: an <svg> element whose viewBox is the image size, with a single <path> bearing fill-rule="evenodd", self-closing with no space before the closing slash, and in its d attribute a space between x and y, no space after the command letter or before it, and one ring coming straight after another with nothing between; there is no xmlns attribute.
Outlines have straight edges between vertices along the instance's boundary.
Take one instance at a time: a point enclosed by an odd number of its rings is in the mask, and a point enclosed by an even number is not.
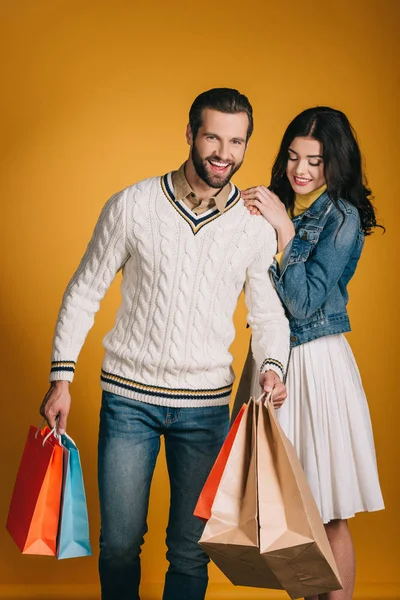
<svg viewBox="0 0 400 600"><path fill-rule="evenodd" d="M106 392L139 402L173 408L224 406L229 404L232 393L232 385L207 390L171 389L146 385L103 370L101 388Z"/></svg>

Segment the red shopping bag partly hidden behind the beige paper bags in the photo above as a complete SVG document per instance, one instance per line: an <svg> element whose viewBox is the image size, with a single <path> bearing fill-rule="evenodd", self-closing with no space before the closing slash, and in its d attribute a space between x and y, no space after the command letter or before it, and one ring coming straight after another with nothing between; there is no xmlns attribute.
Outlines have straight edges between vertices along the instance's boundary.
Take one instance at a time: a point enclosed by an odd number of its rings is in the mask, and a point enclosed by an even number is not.
<svg viewBox="0 0 400 600"><path fill-rule="evenodd" d="M232 423L229 433L226 436L226 440L217 456L217 460L215 461L214 466L211 469L210 474L207 478L207 481L205 482L204 487L201 490L199 499L196 504L196 508L194 509L194 516L199 517L199 519L203 519L204 521L208 521L208 519L211 517L211 508L214 502L214 498L217 493L217 489L221 481L222 475L224 473L225 465L228 461L229 454L232 450L233 442L235 441L237 430L239 429L240 421L242 420L245 408L246 405L243 404L242 408L237 414L236 419Z"/></svg>

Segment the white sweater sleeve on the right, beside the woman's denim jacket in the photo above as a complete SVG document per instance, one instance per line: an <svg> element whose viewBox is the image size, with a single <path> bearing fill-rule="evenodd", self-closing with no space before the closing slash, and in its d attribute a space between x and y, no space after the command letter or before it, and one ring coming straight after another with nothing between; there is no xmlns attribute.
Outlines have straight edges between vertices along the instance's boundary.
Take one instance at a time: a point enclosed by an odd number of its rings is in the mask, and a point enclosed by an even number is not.
<svg viewBox="0 0 400 600"><path fill-rule="evenodd" d="M252 351L262 373L275 371L284 377L289 357L289 323L273 286L269 267L276 253L274 229L265 223L264 243L247 269L245 298L252 328Z"/></svg>

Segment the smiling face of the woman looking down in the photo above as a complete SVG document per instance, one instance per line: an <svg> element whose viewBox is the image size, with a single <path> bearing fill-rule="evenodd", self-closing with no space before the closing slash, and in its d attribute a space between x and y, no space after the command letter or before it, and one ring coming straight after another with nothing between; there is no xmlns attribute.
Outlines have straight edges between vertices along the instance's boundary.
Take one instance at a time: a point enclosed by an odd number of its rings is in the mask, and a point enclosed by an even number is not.
<svg viewBox="0 0 400 600"><path fill-rule="evenodd" d="M313 138L294 138L289 146L286 175L296 194L309 194L324 185L321 142Z"/></svg>

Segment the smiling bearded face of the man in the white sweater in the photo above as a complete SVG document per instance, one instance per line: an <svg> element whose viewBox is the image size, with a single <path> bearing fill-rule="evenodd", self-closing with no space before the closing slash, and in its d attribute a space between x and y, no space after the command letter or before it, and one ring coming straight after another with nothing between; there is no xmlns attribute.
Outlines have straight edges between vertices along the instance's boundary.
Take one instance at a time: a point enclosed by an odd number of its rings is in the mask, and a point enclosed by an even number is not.
<svg viewBox="0 0 400 600"><path fill-rule="evenodd" d="M197 175L212 188L224 187L240 169L246 152L249 119L246 113L227 114L210 108L202 113L202 124L193 141L190 126L187 141Z"/></svg>

